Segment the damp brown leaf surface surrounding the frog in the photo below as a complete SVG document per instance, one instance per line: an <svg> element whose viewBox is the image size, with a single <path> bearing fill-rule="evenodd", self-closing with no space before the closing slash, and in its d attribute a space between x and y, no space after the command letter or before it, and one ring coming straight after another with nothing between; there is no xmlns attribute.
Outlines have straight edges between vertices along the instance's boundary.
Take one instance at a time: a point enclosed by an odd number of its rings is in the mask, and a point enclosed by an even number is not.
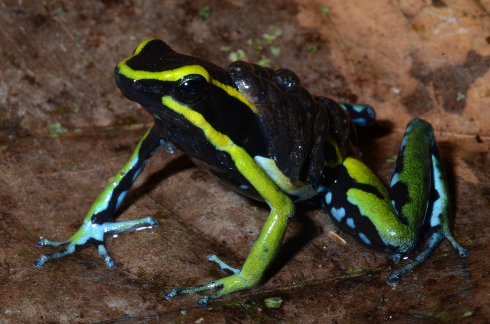
<svg viewBox="0 0 490 324"><path fill-rule="evenodd" d="M1 323L489 323L490 2L459 0L0 1ZM226 66L287 67L317 95L376 108L363 160L387 184L407 122L429 121L452 197L453 233L395 287L397 265L299 207L260 287L198 308L173 287L241 267L267 206L159 151L116 215L160 226L35 268L77 230L151 116L114 67L140 41ZM406 262L406 261L402 261ZM404 264L404 263L403 263ZM399 266L399 265L398 265Z"/></svg>

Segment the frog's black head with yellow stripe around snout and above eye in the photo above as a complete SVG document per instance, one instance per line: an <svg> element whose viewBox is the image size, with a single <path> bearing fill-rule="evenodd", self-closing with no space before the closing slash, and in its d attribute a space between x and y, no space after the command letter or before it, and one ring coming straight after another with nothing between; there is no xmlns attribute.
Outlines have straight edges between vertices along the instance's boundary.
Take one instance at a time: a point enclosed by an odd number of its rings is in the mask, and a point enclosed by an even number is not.
<svg viewBox="0 0 490 324"><path fill-rule="evenodd" d="M161 117L163 102L205 105L212 82L229 83L225 70L196 57L179 54L158 39L142 42L118 64L116 84L129 100Z"/></svg>

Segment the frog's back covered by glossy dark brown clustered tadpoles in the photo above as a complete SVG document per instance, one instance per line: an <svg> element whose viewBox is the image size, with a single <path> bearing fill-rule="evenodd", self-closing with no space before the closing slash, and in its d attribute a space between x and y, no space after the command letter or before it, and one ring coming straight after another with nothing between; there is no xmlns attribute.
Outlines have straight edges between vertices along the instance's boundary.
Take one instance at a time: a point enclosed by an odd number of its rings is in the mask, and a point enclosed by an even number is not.
<svg viewBox="0 0 490 324"><path fill-rule="evenodd" d="M297 200L312 196L312 191L298 189L318 189L324 166L338 165L356 152L355 128L346 111L333 100L312 96L292 71L241 61L228 71L237 90L257 109L254 128L265 151L254 159L276 183L287 179L289 186L277 184Z"/></svg>

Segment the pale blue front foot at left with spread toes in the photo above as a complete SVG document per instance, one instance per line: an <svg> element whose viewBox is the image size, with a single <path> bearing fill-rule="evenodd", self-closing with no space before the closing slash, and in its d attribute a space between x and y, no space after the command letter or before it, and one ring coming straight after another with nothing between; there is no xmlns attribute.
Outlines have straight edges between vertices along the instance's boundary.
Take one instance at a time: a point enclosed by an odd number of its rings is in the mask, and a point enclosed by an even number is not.
<svg viewBox="0 0 490 324"><path fill-rule="evenodd" d="M84 222L80 229L66 241L52 241L46 238L38 241L36 243L37 246L59 247L66 244L67 246L60 251L41 255L36 261L34 261L34 266L40 268L47 261L59 259L66 255L73 254L84 247L92 245L97 248L99 254L106 262L106 265L109 268L114 268L116 263L109 256L109 253L107 253L104 239L109 235L115 235L133 229L139 230L153 227L157 226L158 224L158 221L153 217L117 222L105 222L102 224L96 224L90 221L87 223Z"/></svg>

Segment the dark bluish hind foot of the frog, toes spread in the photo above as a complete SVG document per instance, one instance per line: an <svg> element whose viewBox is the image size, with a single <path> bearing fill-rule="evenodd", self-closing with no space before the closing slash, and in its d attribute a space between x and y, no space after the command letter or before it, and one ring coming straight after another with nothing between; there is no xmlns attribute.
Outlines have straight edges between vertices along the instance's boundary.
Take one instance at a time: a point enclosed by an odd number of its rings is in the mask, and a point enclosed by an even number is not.
<svg viewBox="0 0 490 324"><path fill-rule="evenodd" d="M453 248L458 251L459 255L461 257L467 257L469 255L469 252L467 249L462 247L456 239L453 237L453 235L448 231L437 231L433 233L430 237L429 240L427 241L427 248L420 252L419 255L413 260L411 263L407 264L403 268L394 271L387 279L386 282L390 285L397 285L398 282L400 281L401 277L403 277L405 274L408 272L412 271L425 261L432 255L434 250L436 249L437 246L441 243L441 241L446 238L451 245L453 245ZM392 259L400 259L400 255L398 253L395 253L392 255Z"/></svg>

